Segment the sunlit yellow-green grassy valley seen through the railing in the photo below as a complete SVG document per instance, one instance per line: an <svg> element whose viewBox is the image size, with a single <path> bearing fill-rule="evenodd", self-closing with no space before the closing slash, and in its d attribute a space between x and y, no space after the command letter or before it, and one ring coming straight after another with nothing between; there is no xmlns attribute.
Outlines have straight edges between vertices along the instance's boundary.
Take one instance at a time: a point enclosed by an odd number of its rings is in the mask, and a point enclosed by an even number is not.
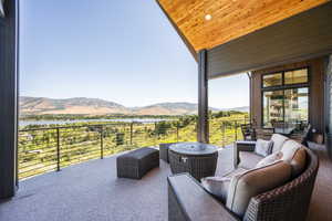
<svg viewBox="0 0 332 221"><path fill-rule="evenodd" d="M241 139L243 113L211 114L210 144L226 146ZM196 141L197 116L159 123L72 124L61 127L21 128L19 178L56 170L90 159L160 143ZM41 126L39 126L41 127Z"/></svg>

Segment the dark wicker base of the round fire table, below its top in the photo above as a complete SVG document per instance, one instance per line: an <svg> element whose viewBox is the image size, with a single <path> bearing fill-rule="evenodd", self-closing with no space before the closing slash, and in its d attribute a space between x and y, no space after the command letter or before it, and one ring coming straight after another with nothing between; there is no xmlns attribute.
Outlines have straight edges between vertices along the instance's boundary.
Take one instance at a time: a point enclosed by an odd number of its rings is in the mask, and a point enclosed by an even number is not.
<svg viewBox="0 0 332 221"><path fill-rule="evenodd" d="M215 176L218 152L211 155L193 156L168 151L170 170L173 173L189 172L195 179Z"/></svg>

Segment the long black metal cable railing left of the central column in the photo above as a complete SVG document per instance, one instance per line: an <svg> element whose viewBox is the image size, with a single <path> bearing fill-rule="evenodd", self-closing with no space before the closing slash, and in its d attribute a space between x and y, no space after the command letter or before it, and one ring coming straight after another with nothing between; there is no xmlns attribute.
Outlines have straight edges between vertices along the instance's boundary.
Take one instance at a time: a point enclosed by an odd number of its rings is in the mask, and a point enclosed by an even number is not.
<svg viewBox="0 0 332 221"><path fill-rule="evenodd" d="M19 131L19 178L160 143L185 141L177 122L59 126ZM194 140L191 140L194 141Z"/></svg>

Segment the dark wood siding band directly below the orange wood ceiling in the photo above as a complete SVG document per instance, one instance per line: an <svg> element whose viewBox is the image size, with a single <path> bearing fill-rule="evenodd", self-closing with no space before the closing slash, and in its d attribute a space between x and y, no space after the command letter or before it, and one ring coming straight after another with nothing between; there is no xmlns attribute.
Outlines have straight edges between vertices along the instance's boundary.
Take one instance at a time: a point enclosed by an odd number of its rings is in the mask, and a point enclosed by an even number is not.
<svg viewBox="0 0 332 221"><path fill-rule="evenodd" d="M303 61L332 52L332 2L208 51L208 76Z"/></svg>

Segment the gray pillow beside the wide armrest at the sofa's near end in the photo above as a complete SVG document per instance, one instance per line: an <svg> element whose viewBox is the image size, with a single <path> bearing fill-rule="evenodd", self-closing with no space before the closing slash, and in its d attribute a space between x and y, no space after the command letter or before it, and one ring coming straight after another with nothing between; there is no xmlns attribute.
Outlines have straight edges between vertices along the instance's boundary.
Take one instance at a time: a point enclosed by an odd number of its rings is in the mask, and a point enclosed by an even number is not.
<svg viewBox="0 0 332 221"><path fill-rule="evenodd" d="M227 177L205 177L201 180L201 186L209 193L226 202L230 178Z"/></svg>

